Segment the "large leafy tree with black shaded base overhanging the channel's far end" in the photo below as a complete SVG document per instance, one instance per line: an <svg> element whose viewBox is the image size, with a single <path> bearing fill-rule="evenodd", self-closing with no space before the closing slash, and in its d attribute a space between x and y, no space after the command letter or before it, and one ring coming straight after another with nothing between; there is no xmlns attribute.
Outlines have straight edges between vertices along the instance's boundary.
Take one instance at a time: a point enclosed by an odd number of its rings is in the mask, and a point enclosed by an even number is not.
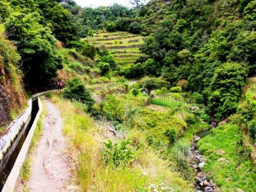
<svg viewBox="0 0 256 192"><path fill-rule="evenodd" d="M22 56L22 71L30 87L47 85L56 76L57 69L62 68L62 59L55 48L56 39L50 28L39 24L40 19L37 12L13 12L5 23L8 38L16 42Z"/></svg>

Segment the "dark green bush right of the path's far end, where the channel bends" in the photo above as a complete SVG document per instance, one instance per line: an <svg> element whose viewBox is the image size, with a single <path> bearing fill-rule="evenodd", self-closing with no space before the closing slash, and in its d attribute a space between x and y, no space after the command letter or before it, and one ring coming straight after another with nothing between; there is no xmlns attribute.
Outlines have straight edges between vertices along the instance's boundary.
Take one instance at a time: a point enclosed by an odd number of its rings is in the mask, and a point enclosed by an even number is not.
<svg viewBox="0 0 256 192"><path fill-rule="evenodd" d="M69 100L80 101L88 106L88 110L91 110L95 101L91 98L91 94L82 81L79 78L73 78L68 81L65 87L63 97Z"/></svg>

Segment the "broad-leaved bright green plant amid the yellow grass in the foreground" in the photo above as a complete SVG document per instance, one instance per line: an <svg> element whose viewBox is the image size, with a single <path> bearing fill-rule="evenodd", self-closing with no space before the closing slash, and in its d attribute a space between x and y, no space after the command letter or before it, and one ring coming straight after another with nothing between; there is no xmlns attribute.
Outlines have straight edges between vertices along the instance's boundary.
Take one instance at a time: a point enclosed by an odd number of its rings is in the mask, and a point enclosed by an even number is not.
<svg viewBox="0 0 256 192"><path fill-rule="evenodd" d="M105 164L112 164L115 167L130 164L135 158L135 149L130 144L130 140L115 144L108 140L107 143L104 143L105 149L102 151L102 155Z"/></svg>

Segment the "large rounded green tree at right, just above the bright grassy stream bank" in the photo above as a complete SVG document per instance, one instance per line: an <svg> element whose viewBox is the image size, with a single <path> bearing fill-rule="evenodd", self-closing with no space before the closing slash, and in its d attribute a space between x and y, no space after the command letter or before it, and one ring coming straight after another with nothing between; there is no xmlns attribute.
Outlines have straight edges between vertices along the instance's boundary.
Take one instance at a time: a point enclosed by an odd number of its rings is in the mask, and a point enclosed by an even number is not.
<svg viewBox="0 0 256 192"><path fill-rule="evenodd" d="M215 69L207 94L209 112L218 120L236 111L247 71L238 63L224 63Z"/></svg>

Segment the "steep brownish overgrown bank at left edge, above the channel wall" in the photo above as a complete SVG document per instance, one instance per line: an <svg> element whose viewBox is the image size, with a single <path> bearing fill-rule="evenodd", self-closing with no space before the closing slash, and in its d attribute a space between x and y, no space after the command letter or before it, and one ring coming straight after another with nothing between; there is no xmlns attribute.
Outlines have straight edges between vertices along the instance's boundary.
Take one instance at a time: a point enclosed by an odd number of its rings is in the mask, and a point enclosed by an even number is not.
<svg viewBox="0 0 256 192"><path fill-rule="evenodd" d="M22 74L18 70L20 56L11 41L6 40L0 25L0 134L6 124L25 106L25 91Z"/></svg>

